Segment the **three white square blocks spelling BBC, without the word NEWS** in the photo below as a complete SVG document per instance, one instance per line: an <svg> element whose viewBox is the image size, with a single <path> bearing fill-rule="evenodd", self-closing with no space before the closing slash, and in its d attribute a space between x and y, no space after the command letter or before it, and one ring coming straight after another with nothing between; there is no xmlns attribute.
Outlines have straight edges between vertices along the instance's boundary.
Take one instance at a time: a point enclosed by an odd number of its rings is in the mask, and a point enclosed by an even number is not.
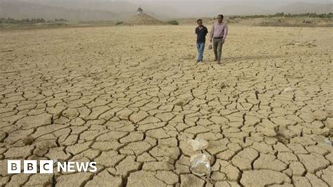
<svg viewBox="0 0 333 187"><path fill-rule="evenodd" d="M53 160L40 160L39 172L41 174L53 173ZM21 173L21 161L20 160L8 160L7 162L8 174L20 174ZM37 174L37 160L23 160L23 173L25 174Z"/></svg>

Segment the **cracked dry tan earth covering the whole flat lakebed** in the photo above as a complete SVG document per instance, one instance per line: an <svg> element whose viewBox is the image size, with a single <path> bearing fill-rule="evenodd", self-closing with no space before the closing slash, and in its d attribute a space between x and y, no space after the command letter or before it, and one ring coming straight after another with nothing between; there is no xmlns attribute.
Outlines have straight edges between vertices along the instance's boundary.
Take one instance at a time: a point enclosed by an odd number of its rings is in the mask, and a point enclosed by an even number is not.
<svg viewBox="0 0 333 187"><path fill-rule="evenodd" d="M198 66L193 30L1 31L1 186L333 186L332 28L230 25L223 65ZM7 174L15 159L98 172Z"/></svg>

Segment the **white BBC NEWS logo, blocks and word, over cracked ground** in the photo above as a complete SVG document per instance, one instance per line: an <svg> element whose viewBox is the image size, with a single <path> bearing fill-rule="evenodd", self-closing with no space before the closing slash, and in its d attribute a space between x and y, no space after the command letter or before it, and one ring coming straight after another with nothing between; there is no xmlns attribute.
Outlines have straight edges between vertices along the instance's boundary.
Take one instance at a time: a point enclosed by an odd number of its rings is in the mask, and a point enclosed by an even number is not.
<svg viewBox="0 0 333 187"><path fill-rule="evenodd" d="M24 174L53 174L53 165L56 163L57 172L97 172L96 162L53 162L53 160L23 160ZM21 173L21 160L8 160L7 173L20 174Z"/></svg>

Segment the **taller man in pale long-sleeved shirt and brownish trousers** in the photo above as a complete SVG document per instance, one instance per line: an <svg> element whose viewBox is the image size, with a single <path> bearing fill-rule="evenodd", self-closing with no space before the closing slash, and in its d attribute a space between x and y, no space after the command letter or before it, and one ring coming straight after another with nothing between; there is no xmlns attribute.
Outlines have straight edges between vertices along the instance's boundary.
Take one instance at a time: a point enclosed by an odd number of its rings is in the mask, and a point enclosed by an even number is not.
<svg viewBox="0 0 333 187"><path fill-rule="evenodd" d="M228 35L228 25L223 22L223 15L217 16L218 22L214 22L213 27L211 27L211 42L214 46L214 55L217 63L221 63L222 56L222 46L226 41Z"/></svg>

